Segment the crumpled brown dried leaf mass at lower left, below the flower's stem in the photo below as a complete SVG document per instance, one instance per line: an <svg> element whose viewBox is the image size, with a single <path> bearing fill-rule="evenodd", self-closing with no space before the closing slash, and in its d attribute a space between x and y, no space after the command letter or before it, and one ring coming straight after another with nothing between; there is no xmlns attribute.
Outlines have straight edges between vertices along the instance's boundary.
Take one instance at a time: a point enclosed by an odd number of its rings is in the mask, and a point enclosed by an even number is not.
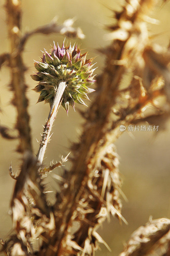
<svg viewBox="0 0 170 256"><path fill-rule="evenodd" d="M37 160L27 152L11 200L15 232L3 244L7 255L33 255L33 241L41 233L51 233L55 228L54 216L43 191Z"/></svg>

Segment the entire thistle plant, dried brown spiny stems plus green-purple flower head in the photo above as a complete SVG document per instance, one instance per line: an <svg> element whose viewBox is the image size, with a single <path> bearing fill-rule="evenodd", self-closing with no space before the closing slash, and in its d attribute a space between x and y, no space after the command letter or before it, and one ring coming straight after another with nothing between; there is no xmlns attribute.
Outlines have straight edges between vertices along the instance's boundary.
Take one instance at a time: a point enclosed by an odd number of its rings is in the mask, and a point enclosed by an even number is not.
<svg viewBox="0 0 170 256"><path fill-rule="evenodd" d="M10 175L17 181L11 199L13 233L6 241L1 240L6 255L94 255L99 243L110 250L97 229L104 220L109 220L110 213L126 222L121 214L122 181L113 144L122 134L120 125L144 120L162 122L170 114L169 49L152 44L146 23L156 3L156 0L127 0L121 11L113 11L116 23L109 26L111 32L107 35L112 43L107 49L100 49L106 64L97 77L94 100L82 112L85 123L79 143L72 146L70 172L64 172L60 179L61 192L56 193L55 204L49 205L42 177L66 162L67 157L49 167L39 165L60 104L68 112L69 104L74 106L74 101L84 104L82 97L87 98L86 92L92 91L86 87L94 82L92 60L86 60L86 53L81 55L77 47L63 45L60 49L54 45L50 54L45 51L42 61L35 62L38 72L32 78L39 82L35 90L40 92L39 101L49 102L51 110L37 158L33 157L22 52L29 36L64 34L63 27L50 23L21 36L21 2L6 1L11 52L0 56L0 64L10 63L19 151L24 153L18 177L14 177L10 168ZM65 35L70 35L70 31L72 36L80 35L71 26L64 26L69 27L65 28ZM168 231L169 220L150 221L132 235L122 255L149 255L151 247L166 244L167 256ZM38 246L35 239L39 239Z"/></svg>

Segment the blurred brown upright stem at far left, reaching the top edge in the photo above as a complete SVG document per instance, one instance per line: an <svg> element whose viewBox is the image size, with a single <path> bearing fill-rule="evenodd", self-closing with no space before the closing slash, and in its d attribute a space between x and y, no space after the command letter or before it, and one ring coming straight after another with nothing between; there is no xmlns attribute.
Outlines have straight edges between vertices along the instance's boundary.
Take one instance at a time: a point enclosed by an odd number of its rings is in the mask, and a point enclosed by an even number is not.
<svg viewBox="0 0 170 256"><path fill-rule="evenodd" d="M19 132L20 146L18 151L32 151L29 115L27 111L28 100L26 98L26 84L24 72L26 70L21 53L13 54L18 48L21 41L20 18L21 2L12 0L6 1L6 11L8 20L9 38L11 41L10 68L11 68L11 85L14 91L14 104L17 108L16 128Z"/></svg>

